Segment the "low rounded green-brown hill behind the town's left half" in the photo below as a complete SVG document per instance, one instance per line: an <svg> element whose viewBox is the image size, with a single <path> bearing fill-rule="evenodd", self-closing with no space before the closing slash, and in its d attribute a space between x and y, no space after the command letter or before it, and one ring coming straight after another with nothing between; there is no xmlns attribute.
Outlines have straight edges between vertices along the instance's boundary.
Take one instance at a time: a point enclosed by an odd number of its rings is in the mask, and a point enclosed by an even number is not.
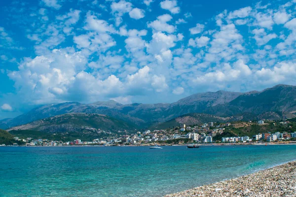
<svg viewBox="0 0 296 197"><path fill-rule="evenodd" d="M12 130L33 130L42 132L77 132L89 128L105 131L134 130L135 127L121 120L101 115L70 113L37 120L25 125L12 127Z"/></svg>

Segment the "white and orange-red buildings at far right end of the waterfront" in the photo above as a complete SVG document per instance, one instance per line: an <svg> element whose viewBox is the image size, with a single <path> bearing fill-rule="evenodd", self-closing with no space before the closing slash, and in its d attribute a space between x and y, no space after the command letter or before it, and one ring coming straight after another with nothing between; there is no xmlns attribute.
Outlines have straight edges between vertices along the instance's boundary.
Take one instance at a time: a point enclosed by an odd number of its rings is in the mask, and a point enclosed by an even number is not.
<svg viewBox="0 0 296 197"><path fill-rule="evenodd" d="M254 140L266 140L268 142L276 141L276 140L288 140L291 138L296 138L296 132L288 133L288 132L275 132L275 133L258 133L257 135L253 135Z"/></svg>

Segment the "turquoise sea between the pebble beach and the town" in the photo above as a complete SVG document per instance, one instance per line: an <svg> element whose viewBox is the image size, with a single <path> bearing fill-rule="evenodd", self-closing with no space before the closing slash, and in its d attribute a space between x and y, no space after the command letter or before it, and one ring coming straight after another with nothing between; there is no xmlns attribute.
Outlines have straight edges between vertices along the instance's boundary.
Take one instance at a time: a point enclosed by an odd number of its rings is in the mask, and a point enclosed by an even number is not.
<svg viewBox="0 0 296 197"><path fill-rule="evenodd" d="M158 197L296 160L296 145L0 147L0 196Z"/></svg>

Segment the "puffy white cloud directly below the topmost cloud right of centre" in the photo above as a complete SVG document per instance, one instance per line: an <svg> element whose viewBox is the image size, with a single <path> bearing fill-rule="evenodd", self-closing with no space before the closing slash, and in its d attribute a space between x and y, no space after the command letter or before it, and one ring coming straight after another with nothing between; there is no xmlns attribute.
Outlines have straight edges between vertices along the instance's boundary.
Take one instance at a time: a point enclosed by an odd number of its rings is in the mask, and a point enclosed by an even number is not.
<svg viewBox="0 0 296 197"><path fill-rule="evenodd" d="M169 14L164 14L157 17L157 20L152 21L148 24L148 28L152 28L154 31L157 32L167 32L173 33L176 31L176 27L167 24L170 20L172 20L172 16Z"/></svg>

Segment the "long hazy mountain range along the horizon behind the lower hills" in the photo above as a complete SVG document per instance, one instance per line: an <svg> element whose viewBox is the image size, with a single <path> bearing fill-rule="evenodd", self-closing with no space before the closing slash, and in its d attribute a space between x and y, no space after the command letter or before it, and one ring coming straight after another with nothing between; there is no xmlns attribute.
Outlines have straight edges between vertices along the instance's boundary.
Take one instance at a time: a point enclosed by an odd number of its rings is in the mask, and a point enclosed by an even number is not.
<svg viewBox="0 0 296 197"><path fill-rule="evenodd" d="M69 113L103 114L113 118L113 121L122 121L122 124L124 122L128 125L127 129L157 127L158 124L180 116L184 117L185 114L189 114L187 116L195 114L193 116L199 117L200 121L203 120L201 116L209 115L225 120L282 119L285 116L296 117L296 86L277 85L260 92L247 93L226 91L197 93L174 103L121 104L110 100L90 104L79 102L47 104L16 118L1 120L0 128L8 129Z"/></svg>

